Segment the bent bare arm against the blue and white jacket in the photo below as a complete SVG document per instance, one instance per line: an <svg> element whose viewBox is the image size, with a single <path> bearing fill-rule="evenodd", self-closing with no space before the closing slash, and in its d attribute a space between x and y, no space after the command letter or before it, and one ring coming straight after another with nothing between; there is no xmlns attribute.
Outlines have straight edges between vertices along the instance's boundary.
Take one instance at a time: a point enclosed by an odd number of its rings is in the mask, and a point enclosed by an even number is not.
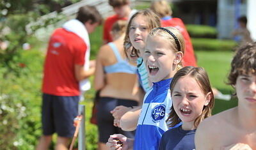
<svg viewBox="0 0 256 150"><path fill-rule="evenodd" d="M137 128L141 106L129 110L120 119L120 128L124 131L133 131Z"/></svg>

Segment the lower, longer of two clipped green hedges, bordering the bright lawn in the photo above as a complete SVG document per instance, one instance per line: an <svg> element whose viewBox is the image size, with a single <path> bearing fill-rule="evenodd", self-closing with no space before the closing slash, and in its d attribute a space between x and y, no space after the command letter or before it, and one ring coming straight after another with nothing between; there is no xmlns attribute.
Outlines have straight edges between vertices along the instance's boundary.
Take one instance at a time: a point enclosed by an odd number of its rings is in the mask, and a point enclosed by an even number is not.
<svg viewBox="0 0 256 150"><path fill-rule="evenodd" d="M195 50L231 51L237 43L233 40L218 40L211 38L192 38Z"/></svg>

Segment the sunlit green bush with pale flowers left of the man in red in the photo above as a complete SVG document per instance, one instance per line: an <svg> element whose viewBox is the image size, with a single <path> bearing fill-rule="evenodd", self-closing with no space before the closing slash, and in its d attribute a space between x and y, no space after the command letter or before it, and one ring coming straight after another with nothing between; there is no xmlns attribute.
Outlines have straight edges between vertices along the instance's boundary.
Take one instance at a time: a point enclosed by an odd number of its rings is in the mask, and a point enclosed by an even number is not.
<svg viewBox="0 0 256 150"><path fill-rule="evenodd" d="M19 76L14 72L3 76L6 68L0 69L0 145L1 149L34 149L41 135L42 54L23 50L17 62L23 64Z"/></svg>

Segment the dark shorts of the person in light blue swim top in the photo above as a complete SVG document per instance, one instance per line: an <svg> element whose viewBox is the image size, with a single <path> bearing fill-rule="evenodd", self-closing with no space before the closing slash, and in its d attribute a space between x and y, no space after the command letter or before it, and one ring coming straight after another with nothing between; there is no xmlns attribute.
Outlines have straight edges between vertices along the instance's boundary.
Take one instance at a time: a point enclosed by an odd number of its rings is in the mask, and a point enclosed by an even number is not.
<svg viewBox="0 0 256 150"><path fill-rule="evenodd" d="M109 135L120 133L129 138L134 138L135 131L123 131L121 128L113 126L114 117L110 113L116 106L123 105L125 107L138 106L138 102L134 100L124 100L117 98L102 97L97 103L97 126L99 130L99 142L108 142Z"/></svg>

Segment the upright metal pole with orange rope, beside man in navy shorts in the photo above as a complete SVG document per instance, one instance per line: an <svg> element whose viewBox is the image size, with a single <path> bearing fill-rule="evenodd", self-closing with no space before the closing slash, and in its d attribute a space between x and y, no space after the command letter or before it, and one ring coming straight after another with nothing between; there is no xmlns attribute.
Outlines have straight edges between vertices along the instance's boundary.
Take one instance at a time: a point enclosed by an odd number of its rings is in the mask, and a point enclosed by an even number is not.
<svg viewBox="0 0 256 150"><path fill-rule="evenodd" d="M85 105L79 105L78 115L83 116L78 133L78 150L85 150Z"/></svg>

